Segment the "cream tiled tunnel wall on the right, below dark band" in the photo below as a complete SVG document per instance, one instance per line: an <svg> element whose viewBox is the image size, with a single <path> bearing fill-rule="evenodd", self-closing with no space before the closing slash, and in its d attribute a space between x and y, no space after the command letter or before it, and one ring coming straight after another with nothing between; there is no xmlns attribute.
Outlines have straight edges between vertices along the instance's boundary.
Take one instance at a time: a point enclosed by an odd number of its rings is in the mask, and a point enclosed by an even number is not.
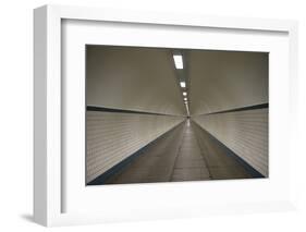
<svg viewBox="0 0 306 232"><path fill-rule="evenodd" d="M268 176L268 108L197 115L193 120Z"/></svg>

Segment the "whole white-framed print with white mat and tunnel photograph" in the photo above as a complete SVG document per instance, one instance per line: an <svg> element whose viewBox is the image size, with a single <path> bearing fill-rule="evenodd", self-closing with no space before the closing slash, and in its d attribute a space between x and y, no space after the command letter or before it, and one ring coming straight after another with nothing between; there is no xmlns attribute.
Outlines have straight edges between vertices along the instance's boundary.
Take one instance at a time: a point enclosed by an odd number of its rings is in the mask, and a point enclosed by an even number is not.
<svg viewBox="0 0 306 232"><path fill-rule="evenodd" d="M296 22L34 15L35 221L294 208Z"/></svg>

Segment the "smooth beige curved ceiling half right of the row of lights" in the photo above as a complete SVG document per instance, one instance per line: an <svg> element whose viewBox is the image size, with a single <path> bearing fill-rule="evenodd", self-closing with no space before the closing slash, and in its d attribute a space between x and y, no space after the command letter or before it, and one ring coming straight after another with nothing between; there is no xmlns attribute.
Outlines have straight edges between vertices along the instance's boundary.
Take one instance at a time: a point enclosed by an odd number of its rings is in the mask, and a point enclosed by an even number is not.
<svg viewBox="0 0 306 232"><path fill-rule="evenodd" d="M206 114L268 102L268 53L191 50L189 111Z"/></svg>

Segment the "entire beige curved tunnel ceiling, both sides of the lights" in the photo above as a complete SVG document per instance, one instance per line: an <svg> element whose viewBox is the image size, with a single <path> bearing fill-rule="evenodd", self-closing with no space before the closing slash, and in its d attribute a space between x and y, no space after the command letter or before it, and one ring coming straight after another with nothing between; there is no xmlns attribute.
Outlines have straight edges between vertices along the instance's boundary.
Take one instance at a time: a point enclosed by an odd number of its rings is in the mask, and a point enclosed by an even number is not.
<svg viewBox="0 0 306 232"><path fill-rule="evenodd" d="M176 70L173 52L183 54ZM268 53L87 46L87 105L191 115L268 102Z"/></svg>

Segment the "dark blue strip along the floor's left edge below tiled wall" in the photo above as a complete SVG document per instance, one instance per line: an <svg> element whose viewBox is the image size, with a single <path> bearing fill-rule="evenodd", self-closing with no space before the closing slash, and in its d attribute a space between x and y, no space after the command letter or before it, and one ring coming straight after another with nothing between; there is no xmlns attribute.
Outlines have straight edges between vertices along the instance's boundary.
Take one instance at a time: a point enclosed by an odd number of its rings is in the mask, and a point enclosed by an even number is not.
<svg viewBox="0 0 306 232"><path fill-rule="evenodd" d="M184 122L184 121L183 121ZM110 168L108 171L106 171L105 173L100 174L98 178L94 179L93 181L90 181L89 183L87 183L86 185L101 185L101 184L107 184L108 180L110 178L112 178L115 174L119 174L120 172L122 172L128 164L131 164L137 157L144 155L145 149L147 149L150 146L154 146L158 141L162 139L167 134L169 134L170 132L172 132L173 130L175 130L176 127L179 127L183 122L179 123L178 125L175 125L174 127L170 129L168 132L163 133L162 135L160 135L159 137L157 137L155 141L150 142L149 144L147 144L146 146L142 147L140 149L138 149L136 152L132 154L131 156L128 156L127 158L123 159L122 161L120 161L119 163L117 163L115 166L113 166L112 168Z"/></svg>

